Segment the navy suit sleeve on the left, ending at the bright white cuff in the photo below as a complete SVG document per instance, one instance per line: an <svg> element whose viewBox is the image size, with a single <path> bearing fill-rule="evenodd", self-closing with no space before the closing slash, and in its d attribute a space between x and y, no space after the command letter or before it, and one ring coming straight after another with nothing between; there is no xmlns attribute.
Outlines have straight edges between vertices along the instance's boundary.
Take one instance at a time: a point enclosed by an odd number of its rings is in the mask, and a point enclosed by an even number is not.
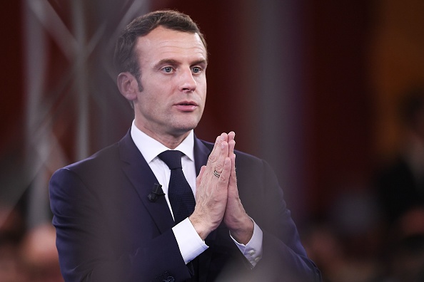
<svg viewBox="0 0 424 282"><path fill-rule="evenodd" d="M120 253L113 248L127 234L116 236L104 220L107 203L98 204L79 174L70 169L55 172L50 181L51 211L56 246L65 281L176 281L190 278L172 229L140 240L139 246ZM107 190L105 190L107 193ZM125 219L118 219L125 220ZM110 234L110 235L109 235Z"/></svg>

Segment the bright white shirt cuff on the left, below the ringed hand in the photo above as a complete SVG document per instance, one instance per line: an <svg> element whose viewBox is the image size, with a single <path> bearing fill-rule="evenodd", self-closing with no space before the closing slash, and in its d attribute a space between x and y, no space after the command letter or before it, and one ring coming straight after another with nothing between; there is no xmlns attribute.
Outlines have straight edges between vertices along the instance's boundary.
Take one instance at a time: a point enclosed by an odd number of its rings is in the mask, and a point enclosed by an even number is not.
<svg viewBox="0 0 424 282"><path fill-rule="evenodd" d="M173 226L172 231L186 264L208 249L208 245L198 236L188 218Z"/></svg>

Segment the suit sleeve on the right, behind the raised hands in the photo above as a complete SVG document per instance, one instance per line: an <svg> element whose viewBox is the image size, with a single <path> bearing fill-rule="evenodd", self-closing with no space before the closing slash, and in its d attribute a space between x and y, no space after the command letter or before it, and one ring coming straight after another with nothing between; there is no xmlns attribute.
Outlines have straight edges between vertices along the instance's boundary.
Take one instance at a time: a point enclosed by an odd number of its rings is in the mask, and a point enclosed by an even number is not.
<svg viewBox="0 0 424 282"><path fill-rule="evenodd" d="M262 161L257 166L242 166L238 172L251 176L238 177L238 189L243 206L263 231L263 256L250 277L263 281L322 281L301 244L283 190L269 164Z"/></svg>

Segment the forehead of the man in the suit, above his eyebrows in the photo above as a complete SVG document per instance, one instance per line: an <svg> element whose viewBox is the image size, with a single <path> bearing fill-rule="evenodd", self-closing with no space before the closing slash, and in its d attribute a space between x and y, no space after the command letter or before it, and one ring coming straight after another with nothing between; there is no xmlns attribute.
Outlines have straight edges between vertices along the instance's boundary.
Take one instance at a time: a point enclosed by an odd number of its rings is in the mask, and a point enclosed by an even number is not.
<svg viewBox="0 0 424 282"><path fill-rule="evenodd" d="M164 58L207 59L206 48L197 33L173 31L158 26L136 42L136 52L141 61L156 61Z"/></svg>

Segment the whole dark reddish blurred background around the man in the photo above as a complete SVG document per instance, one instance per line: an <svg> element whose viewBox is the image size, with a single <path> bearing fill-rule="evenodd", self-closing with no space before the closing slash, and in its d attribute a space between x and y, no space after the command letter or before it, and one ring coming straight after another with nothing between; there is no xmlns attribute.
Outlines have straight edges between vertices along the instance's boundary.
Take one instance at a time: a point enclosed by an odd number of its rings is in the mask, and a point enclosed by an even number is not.
<svg viewBox="0 0 424 282"><path fill-rule="evenodd" d="M49 177L130 127L113 45L155 9L206 35L196 135L271 163L324 280L424 281L424 1L21 0L0 9L0 282L61 281Z"/></svg>

